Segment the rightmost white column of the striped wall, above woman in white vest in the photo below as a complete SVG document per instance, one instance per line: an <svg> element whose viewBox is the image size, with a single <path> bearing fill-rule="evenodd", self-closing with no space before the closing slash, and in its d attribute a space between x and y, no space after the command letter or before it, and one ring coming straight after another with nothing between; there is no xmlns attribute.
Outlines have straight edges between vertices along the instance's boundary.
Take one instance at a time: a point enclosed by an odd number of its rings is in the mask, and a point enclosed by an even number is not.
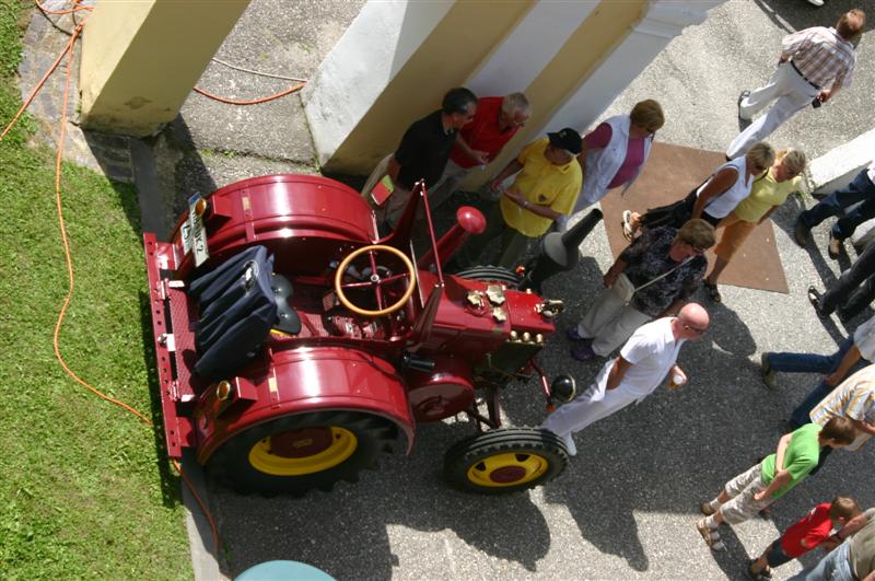
<svg viewBox="0 0 875 581"><path fill-rule="evenodd" d="M590 127L675 36L685 27L703 22L708 10L724 1L653 0L644 18L631 27L629 35L607 55L539 133L562 127L581 130Z"/></svg>

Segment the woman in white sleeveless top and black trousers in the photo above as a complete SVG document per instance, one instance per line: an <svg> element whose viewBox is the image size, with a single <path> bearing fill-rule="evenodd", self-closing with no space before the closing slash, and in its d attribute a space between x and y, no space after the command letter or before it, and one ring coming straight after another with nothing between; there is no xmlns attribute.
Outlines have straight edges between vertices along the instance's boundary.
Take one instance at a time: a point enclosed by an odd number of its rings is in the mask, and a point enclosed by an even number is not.
<svg viewBox="0 0 875 581"><path fill-rule="evenodd" d="M623 236L632 240L641 226L680 228L691 218L701 218L716 226L738 206L738 202L750 195L755 176L762 174L772 163L774 163L772 147L763 141L755 143L746 155L727 161L718 167L682 200L653 208L643 216L630 210L623 211Z"/></svg>

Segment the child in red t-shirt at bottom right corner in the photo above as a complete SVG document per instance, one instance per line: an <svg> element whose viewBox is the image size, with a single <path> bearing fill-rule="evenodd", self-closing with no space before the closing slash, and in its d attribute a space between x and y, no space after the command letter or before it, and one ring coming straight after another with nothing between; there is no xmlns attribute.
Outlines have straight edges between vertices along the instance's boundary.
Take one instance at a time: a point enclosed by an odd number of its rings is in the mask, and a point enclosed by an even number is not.
<svg viewBox="0 0 875 581"><path fill-rule="evenodd" d="M841 528L861 513L856 501L848 497L836 497L832 502L816 506L784 531L758 559L750 561L748 576L755 581L770 578L771 567L779 567L808 553L829 538L832 528Z"/></svg>

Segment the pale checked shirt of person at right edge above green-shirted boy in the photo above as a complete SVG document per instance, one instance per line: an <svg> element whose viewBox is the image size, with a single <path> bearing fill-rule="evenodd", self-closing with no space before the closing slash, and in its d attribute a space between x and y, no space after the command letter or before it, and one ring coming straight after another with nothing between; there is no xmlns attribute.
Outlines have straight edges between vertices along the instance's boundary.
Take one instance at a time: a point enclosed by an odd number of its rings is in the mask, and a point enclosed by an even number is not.
<svg viewBox="0 0 875 581"><path fill-rule="evenodd" d="M810 414L812 422L820 426L837 416L862 421L875 430L875 365L868 365L844 380ZM856 440L848 450L860 450L870 438L871 433L858 428Z"/></svg>

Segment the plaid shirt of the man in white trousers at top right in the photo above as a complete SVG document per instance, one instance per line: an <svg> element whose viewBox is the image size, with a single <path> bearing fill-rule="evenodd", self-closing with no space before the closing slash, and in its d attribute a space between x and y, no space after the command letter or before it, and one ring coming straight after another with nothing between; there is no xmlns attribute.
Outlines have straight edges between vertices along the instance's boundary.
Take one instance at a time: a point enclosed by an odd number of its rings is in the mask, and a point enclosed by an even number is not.
<svg viewBox="0 0 875 581"><path fill-rule="evenodd" d="M815 26L790 34L781 42L782 59L792 59L805 80L822 89L850 86L856 65L854 45L839 36L833 27Z"/></svg>

